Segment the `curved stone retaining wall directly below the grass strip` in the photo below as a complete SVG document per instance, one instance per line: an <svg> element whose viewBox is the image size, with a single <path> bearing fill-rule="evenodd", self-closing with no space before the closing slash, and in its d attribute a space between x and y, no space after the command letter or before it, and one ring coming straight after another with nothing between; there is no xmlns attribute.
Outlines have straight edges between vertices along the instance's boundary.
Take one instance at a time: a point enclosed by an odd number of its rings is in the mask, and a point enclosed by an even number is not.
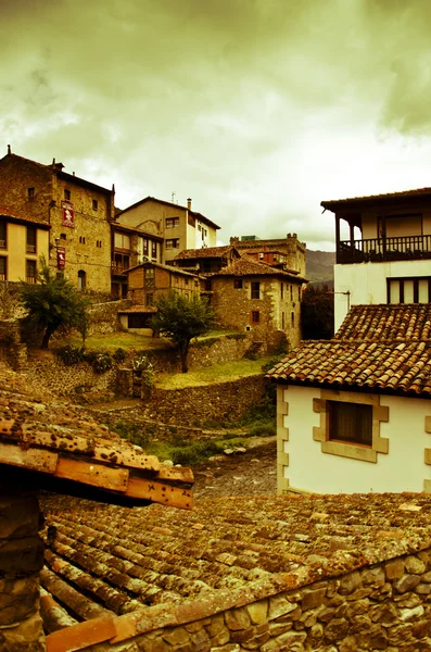
<svg viewBox="0 0 431 652"><path fill-rule="evenodd" d="M208 419L231 422L240 418L251 405L261 402L265 383L263 374L259 374L204 387L155 388L150 399L143 402L142 416L185 426Z"/></svg>

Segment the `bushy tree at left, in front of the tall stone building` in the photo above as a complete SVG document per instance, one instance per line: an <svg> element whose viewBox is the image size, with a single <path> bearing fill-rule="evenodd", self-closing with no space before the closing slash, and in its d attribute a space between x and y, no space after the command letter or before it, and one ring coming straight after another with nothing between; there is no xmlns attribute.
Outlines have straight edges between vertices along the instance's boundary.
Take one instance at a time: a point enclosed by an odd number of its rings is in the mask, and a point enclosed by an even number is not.
<svg viewBox="0 0 431 652"><path fill-rule="evenodd" d="M21 284L21 301L27 309L29 324L43 331L41 349L59 328L77 328L85 340L88 328L87 298L63 276L55 277L45 256L39 259L36 284Z"/></svg>

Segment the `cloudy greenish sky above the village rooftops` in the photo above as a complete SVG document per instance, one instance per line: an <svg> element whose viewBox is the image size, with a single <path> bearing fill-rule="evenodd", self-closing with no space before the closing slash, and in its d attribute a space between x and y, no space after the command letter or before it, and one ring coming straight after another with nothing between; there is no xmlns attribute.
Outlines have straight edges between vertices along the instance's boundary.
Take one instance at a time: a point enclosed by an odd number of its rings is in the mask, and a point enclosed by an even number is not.
<svg viewBox="0 0 431 652"><path fill-rule="evenodd" d="M333 249L322 199L431 186L430 0L0 0L4 153L219 239Z"/></svg>

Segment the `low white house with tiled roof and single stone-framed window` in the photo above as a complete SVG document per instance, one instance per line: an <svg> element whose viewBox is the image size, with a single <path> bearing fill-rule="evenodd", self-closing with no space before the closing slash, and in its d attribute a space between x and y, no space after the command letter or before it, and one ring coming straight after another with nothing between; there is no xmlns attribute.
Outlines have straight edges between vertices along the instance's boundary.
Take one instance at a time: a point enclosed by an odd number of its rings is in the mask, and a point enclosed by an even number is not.
<svg viewBox="0 0 431 652"><path fill-rule="evenodd" d="M353 306L277 381L278 489L431 491L431 305Z"/></svg>

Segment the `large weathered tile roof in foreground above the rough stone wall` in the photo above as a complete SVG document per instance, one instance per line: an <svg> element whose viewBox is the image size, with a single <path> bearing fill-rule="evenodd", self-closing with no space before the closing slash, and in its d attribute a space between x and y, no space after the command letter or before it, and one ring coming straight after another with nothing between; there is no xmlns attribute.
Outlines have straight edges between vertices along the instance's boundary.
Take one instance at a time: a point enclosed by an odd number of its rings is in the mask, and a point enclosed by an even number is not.
<svg viewBox="0 0 431 652"><path fill-rule="evenodd" d="M104 618L107 645L431 546L423 493L234 497L190 512L42 502L47 629ZM50 634L48 650L83 626Z"/></svg>

